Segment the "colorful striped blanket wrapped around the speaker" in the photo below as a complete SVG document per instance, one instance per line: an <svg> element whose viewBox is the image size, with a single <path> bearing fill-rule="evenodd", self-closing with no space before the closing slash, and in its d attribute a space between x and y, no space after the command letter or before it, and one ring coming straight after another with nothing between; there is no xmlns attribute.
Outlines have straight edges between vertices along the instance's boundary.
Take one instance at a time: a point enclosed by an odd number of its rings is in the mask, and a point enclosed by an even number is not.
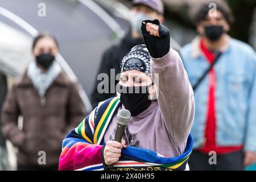
<svg viewBox="0 0 256 182"><path fill-rule="evenodd" d="M102 141L109 123L121 106L118 97L101 102L80 123L76 129L68 133L63 140L63 150L59 160L59 170L106 170L102 162ZM141 147L127 146L122 149L118 162L113 170L117 171L172 171L185 170L192 151L192 137L189 135L184 154L174 158L165 158L155 151Z"/></svg>

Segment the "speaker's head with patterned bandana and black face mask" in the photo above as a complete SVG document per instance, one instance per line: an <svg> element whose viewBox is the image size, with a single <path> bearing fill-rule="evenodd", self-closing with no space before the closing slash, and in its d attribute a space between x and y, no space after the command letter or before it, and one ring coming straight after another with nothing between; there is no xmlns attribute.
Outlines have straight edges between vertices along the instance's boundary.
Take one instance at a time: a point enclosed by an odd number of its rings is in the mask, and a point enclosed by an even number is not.
<svg viewBox="0 0 256 182"><path fill-rule="evenodd" d="M136 59L136 57L141 57L141 59ZM127 85L126 78L122 74L122 72L127 71L130 71L129 75L126 75L128 79L130 75L132 77L134 74L134 78L130 77L130 79L134 79L135 84L133 86ZM136 73L141 77L135 75ZM141 82L151 80L150 77L150 56L148 55L146 46L134 47L121 62L121 78L117 86L120 100L125 108L131 112L132 116L138 115L152 103L149 90L154 85L154 82L151 82L150 85L143 86L138 84L139 80Z"/></svg>

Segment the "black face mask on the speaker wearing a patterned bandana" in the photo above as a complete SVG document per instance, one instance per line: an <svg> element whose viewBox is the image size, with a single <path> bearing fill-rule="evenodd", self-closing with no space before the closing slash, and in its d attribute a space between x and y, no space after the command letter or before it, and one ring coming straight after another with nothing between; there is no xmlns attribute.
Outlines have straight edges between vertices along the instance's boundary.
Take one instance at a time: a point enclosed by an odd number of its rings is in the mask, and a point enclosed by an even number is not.
<svg viewBox="0 0 256 182"><path fill-rule="evenodd" d="M125 109L129 110L132 116L138 115L142 111L146 110L151 105L148 88L150 86L122 86L119 85L121 91L120 100L125 106Z"/></svg>

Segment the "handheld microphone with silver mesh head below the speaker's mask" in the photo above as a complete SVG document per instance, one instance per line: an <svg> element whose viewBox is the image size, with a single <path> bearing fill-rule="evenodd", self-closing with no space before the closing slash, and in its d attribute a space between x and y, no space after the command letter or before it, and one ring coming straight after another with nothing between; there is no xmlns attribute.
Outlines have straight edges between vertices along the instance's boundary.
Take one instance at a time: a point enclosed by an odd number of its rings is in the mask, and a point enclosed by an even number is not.
<svg viewBox="0 0 256 182"><path fill-rule="evenodd" d="M117 113L117 133L115 134L115 141L122 141L123 133L125 132L125 127L129 123L131 118L131 113L127 109L121 109ZM110 170L113 169L114 164L110 165Z"/></svg>

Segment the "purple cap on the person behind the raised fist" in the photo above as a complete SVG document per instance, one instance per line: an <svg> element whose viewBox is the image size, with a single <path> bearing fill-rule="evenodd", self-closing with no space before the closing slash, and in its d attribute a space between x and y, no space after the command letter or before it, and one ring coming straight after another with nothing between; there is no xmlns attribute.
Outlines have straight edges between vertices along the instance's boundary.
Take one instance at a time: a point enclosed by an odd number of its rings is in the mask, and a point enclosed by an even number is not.
<svg viewBox="0 0 256 182"><path fill-rule="evenodd" d="M134 5L146 5L155 10L158 14L164 14L164 5L161 0L133 0Z"/></svg>

